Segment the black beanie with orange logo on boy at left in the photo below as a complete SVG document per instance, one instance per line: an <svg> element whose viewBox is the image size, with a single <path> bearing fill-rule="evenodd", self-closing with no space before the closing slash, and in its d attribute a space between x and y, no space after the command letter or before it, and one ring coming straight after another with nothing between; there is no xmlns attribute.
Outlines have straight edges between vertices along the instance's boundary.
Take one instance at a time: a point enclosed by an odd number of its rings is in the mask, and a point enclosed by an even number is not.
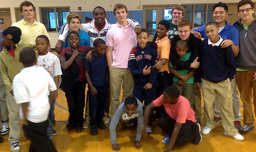
<svg viewBox="0 0 256 152"><path fill-rule="evenodd" d="M7 37L8 39L14 41L15 43L19 43L21 30L18 27L8 27L4 31L2 31L2 35Z"/></svg>

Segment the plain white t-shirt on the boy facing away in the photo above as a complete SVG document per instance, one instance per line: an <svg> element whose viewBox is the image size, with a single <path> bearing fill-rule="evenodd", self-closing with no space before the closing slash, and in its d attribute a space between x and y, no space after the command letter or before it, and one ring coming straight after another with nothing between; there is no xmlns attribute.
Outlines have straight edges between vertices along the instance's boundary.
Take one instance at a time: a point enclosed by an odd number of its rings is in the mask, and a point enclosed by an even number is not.
<svg viewBox="0 0 256 152"><path fill-rule="evenodd" d="M29 102L27 120L41 123L48 119L50 111L49 92L57 89L49 73L35 65L23 68L12 82L13 94L17 104L20 104L20 118L24 120L22 103Z"/></svg>

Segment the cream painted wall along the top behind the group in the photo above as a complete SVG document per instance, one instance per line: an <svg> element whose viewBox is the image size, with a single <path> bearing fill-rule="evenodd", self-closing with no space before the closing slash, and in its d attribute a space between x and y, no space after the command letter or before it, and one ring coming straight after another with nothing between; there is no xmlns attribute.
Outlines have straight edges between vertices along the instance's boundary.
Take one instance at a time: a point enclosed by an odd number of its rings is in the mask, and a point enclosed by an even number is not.
<svg viewBox="0 0 256 152"><path fill-rule="evenodd" d="M30 0L28 0L30 1ZM220 0L206 0L209 4L218 3ZM224 3L238 3L240 0L221 0ZM252 0L256 2L256 0ZM20 7L23 0L0 0L0 8L10 8L12 23L16 22L15 7ZM143 5L174 5L177 0L31 0L36 7L37 21L41 22L39 7L70 7L70 12L89 12L96 6L102 6L106 11L112 11L116 3L123 3L128 10L142 10ZM178 4L202 4L202 0L179 0ZM204 3L205 4L205 3ZM140 6L137 9L137 6ZM78 10L82 7L82 10ZM57 32L49 32L51 47L54 48L57 42Z"/></svg>

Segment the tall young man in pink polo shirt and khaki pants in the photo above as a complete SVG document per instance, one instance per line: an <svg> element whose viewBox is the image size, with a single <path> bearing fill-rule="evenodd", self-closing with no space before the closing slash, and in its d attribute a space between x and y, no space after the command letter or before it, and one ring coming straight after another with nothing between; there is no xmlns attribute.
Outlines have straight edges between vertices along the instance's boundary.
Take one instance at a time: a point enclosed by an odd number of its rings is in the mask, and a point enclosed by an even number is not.
<svg viewBox="0 0 256 152"><path fill-rule="evenodd" d="M132 26L127 22L127 7L116 4L113 9L117 24L107 31L107 64L109 66L111 106L110 117L119 105L121 84L123 82L123 99L132 96L134 88L133 74L128 68L128 58L131 51L137 46L137 35Z"/></svg>

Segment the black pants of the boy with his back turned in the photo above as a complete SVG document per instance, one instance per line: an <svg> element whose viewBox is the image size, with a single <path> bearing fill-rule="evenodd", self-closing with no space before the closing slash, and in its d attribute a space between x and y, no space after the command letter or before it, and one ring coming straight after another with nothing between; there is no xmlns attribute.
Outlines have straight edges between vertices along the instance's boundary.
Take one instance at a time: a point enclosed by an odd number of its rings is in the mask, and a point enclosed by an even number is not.
<svg viewBox="0 0 256 152"><path fill-rule="evenodd" d="M57 152L53 146L52 140L45 135L48 120L42 123L32 123L28 121L28 125L23 125L23 130L30 138L31 144L29 152Z"/></svg>

